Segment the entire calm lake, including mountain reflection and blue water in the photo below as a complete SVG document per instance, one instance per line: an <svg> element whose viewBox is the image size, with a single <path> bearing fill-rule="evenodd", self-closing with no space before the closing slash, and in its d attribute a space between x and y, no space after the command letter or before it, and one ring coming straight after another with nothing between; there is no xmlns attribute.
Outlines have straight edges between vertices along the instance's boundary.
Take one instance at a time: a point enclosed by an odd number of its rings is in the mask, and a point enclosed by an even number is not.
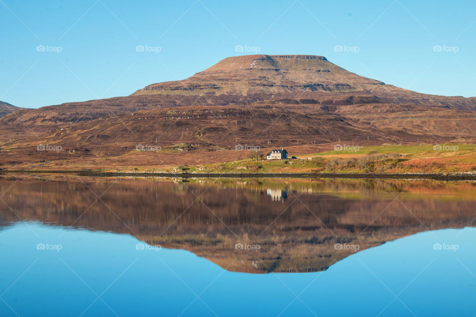
<svg viewBox="0 0 476 317"><path fill-rule="evenodd" d="M476 182L0 178L0 316L476 315Z"/></svg>

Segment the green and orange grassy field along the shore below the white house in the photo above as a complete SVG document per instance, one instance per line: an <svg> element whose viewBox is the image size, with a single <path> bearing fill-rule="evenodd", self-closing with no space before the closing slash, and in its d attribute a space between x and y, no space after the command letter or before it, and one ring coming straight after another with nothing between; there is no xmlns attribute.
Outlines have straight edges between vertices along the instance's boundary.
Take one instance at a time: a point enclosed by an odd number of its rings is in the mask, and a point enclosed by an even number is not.
<svg viewBox="0 0 476 317"><path fill-rule="evenodd" d="M297 159L243 159L147 171L188 173L475 173L476 145L343 147Z"/></svg>

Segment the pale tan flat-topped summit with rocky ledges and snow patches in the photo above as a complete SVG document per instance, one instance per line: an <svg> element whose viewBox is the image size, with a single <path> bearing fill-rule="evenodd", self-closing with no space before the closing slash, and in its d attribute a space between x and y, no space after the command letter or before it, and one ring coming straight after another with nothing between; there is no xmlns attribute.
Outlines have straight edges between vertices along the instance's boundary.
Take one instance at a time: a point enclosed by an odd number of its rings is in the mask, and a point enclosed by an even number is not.
<svg viewBox="0 0 476 317"><path fill-rule="evenodd" d="M233 94L372 90L384 83L341 68L324 56L245 55L225 58L179 81L149 85L132 95Z"/></svg>

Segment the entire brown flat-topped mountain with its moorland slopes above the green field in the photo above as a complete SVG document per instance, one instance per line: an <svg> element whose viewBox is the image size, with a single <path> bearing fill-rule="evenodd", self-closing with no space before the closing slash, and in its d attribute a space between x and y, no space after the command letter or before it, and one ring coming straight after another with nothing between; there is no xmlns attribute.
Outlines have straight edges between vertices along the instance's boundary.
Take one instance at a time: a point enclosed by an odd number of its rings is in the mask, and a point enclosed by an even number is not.
<svg viewBox="0 0 476 317"><path fill-rule="evenodd" d="M0 168L157 166L137 155L144 144L177 165L243 159L238 144L474 142L476 132L476 98L419 94L315 55L235 56L126 97L3 107L10 113L0 118ZM39 152L39 144L61 152Z"/></svg>

